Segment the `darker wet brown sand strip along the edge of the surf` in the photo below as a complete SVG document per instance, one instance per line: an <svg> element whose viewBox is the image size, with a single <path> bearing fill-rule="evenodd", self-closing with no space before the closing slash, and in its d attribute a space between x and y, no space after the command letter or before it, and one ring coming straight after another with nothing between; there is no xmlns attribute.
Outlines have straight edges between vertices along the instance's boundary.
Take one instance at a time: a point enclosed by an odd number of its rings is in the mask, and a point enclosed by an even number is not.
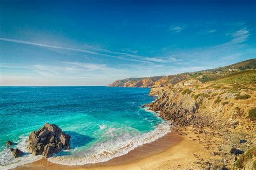
<svg viewBox="0 0 256 170"><path fill-rule="evenodd" d="M65 166L53 164L52 162L47 161L47 159L41 159L36 162L32 162L31 164L19 166L15 169L117 169L129 164L136 164L136 162L147 157L165 152L170 147L179 144L182 140L183 138L178 135L178 132L173 130L152 143L139 146L125 155L113 158L106 162L86 164L83 166Z"/></svg>

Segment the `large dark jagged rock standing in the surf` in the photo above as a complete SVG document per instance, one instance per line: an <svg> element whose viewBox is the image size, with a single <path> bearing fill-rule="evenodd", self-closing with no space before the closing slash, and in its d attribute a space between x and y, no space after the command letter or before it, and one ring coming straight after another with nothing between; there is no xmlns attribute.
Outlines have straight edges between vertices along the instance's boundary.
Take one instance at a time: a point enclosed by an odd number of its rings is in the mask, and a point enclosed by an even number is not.
<svg viewBox="0 0 256 170"><path fill-rule="evenodd" d="M43 128L30 133L27 149L33 155L43 154L49 158L53 153L69 150L70 138L57 125L46 123Z"/></svg>

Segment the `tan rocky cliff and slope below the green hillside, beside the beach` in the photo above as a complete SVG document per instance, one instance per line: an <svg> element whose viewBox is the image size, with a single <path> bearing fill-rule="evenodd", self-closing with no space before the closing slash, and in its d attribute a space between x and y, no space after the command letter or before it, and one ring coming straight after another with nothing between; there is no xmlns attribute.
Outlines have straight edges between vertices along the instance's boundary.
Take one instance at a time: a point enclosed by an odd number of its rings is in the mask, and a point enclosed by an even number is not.
<svg viewBox="0 0 256 170"><path fill-rule="evenodd" d="M215 158L204 158L197 164L206 169L256 168L255 121L248 111L255 107L255 90L230 92L209 88L197 80L182 81L172 87L152 88L156 101L145 104L150 110L170 121L179 134L192 127L199 144ZM237 95L250 95L247 100L236 100ZM252 152L248 159L247 152ZM194 155L200 158L200 155Z"/></svg>

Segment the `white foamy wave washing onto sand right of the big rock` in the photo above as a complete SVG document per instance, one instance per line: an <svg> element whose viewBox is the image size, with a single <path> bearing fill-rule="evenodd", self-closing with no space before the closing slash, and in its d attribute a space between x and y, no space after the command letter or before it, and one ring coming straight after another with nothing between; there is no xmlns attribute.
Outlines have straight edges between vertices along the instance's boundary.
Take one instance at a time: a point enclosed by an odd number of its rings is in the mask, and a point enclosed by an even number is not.
<svg viewBox="0 0 256 170"><path fill-rule="evenodd" d="M113 130L116 133L113 133ZM133 129L133 133L126 131L122 136L117 135L118 132L122 132L123 130L124 129L122 128L109 129L105 134L116 138L106 140L103 143L97 143L91 147L90 150L84 152L81 151L76 156L62 155L49 158L48 160L62 165L85 165L108 161L112 158L127 154L140 145L150 143L160 137L163 137L165 134L170 132L170 124L162 122L156 127L156 129L144 134Z"/></svg>

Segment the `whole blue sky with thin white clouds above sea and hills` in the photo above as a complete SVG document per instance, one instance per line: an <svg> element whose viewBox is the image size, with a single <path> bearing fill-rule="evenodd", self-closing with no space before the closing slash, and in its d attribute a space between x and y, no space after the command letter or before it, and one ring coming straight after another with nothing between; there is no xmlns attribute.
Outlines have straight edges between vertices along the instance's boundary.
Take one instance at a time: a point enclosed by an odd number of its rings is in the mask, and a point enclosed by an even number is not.
<svg viewBox="0 0 256 170"><path fill-rule="evenodd" d="M2 86L107 85L255 58L255 1L0 1Z"/></svg>

